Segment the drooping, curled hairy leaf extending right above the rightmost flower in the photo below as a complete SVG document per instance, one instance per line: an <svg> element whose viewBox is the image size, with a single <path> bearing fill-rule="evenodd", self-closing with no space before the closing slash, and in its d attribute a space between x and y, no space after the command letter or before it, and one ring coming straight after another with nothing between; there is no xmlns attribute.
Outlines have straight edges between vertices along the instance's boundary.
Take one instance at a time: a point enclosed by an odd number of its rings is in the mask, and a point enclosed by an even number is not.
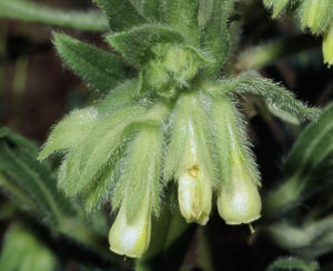
<svg viewBox="0 0 333 271"><path fill-rule="evenodd" d="M263 99L276 117L297 124L317 117L320 110L309 108L279 83L253 74L244 74L221 81L222 92L250 94Z"/></svg>

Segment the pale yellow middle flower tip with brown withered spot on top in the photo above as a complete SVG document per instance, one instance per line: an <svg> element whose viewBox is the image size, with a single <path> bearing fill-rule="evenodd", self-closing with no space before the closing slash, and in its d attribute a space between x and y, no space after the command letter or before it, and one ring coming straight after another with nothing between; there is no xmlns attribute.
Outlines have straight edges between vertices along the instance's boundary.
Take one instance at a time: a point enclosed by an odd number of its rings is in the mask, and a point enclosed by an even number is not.
<svg viewBox="0 0 333 271"><path fill-rule="evenodd" d="M209 179L198 165L184 170L180 175L178 200L188 223L195 221L204 225L209 221L212 190Z"/></svg>

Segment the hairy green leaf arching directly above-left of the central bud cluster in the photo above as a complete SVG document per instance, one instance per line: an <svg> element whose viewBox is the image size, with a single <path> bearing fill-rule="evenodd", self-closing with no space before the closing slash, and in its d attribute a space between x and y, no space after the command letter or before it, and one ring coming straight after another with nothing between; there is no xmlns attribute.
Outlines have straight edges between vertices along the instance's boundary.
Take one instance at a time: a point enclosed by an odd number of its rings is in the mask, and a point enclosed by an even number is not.
<svg viewBox="0 0 333 271"><path fill-rule="evenodd" d="M151 49L154 44L181 43L183 37L168 27L145 24L125 32L110 34L107 40L128 63L140 68L152 56Z"/></svg>

